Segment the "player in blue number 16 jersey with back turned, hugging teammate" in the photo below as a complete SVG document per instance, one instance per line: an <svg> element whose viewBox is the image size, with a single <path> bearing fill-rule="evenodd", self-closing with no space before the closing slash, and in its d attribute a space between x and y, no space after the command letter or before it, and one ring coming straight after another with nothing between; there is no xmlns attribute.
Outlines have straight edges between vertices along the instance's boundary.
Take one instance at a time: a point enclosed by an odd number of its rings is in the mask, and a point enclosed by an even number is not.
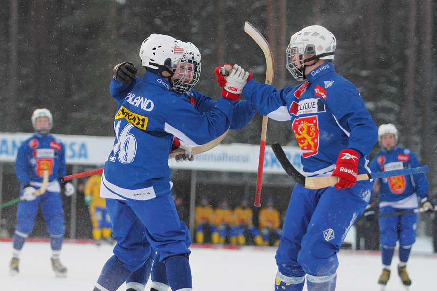
<svg viewBox="0 0 437 291"><path fill-rule="evenodd" d="M172 91L189 92L199 80L200 53L191 43L152 34L142 43L140 57L146 68L142 80L127 88L114 79L111 83L118 102L116 139L102 174L101 197L117 244L94 290L117 290L157 251L171 289L190 291L187 230L171 197L168 155L174 137L200 145L222 135L236 99L223 97L200 113Z"/></svg>

